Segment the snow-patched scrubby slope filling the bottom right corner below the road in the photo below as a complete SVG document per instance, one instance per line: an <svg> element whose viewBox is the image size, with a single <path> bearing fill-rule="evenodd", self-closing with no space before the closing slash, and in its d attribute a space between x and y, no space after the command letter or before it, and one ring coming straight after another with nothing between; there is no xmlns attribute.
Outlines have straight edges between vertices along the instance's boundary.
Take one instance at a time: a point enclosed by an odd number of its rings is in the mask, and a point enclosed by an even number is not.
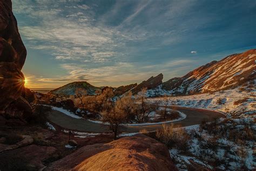
<svg viewBox="0 0 256 171"><path fill-rule="evenodd" d="M220 119L191 128L163 125L155 136L179 169L253 170L255 131L255 119Z"/></svg>

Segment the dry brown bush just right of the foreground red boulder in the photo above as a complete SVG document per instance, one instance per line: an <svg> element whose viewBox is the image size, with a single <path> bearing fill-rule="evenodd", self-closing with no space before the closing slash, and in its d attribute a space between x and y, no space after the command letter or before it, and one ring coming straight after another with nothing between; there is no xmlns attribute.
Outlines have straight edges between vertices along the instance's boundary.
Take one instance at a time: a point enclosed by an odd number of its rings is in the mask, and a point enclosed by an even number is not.
<svg viewBox="0 0 256 171"><path fill-rule="evenodd" d="M177 147L186 152L191 138L185 129L178 127L180 126L174 126L173 124L170 126L163 125L163 129L158 130L156 136L160 142L165 143L168 147Z"/></svg>

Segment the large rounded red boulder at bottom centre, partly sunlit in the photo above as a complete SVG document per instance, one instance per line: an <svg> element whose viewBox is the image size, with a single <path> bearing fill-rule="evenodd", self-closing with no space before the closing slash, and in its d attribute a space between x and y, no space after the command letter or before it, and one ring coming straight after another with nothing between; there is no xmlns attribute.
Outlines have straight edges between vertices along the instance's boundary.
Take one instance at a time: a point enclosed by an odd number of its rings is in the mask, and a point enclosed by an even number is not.
<svg viewBox="0 0 256 171"><path fill-rule="evenodd" d="M46 170L177 170L168 148L143 134L85 146Z"/></svg>

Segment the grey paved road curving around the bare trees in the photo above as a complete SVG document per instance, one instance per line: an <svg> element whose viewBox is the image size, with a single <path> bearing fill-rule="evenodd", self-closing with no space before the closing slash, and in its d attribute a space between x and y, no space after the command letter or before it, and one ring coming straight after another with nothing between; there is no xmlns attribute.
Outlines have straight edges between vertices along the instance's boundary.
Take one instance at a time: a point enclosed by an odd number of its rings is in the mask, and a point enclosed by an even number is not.
<svg viewBox="0 0 256 171"><path fill-rule="evenodd" d="M187 117L183 120L171 122L166 125L174 124L181 126L191 126L200 124L201 121L203 121L204 119L212 121L214 118L225 118L225 115L220 112L202 110L197 108L186 108L179 106L175 107L177 108L178 111L185 113ZM95 122L87 121L84 119L72 118L56 110L52 110L49 113L48 119L54 124L66 129L95 133L110 132L107 125L97 124ZM146 129L147 131L156 131L157 129L160 128L161 124L147 126L122 126L121 131L133 133L139 132L141 129Z"/></svg>

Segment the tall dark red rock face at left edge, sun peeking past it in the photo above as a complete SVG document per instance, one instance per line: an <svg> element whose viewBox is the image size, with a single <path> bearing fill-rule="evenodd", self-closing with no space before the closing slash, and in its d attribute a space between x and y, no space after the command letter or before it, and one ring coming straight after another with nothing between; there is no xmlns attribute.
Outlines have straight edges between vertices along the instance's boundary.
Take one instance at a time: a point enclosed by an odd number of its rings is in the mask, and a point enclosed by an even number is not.
<svg viewBox="0 0 256 171"><path fill-rule="evenodd" d="M11 106L19 101L26 104L21 100L25 83L21 69L25 59L26 49L12 13L12 3L0 1L0 113L15 114ZM31 108L30 105L22 106Z"/></svg>

